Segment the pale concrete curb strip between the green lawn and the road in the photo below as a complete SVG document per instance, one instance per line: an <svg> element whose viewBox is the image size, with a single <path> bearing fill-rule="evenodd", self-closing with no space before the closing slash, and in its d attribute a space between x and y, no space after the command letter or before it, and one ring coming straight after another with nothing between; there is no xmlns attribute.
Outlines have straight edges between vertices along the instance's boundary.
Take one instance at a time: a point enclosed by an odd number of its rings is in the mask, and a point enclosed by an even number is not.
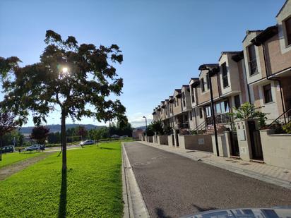
<svg viewBox="0 0 291 218"><path fill-rule="evenodd" d="M124 200L124 218L146 217L149 218L148 209L141 195L141 190L136 182L136 177L131 169L124 143L121 143L122 154L122 196Z"/></svg>

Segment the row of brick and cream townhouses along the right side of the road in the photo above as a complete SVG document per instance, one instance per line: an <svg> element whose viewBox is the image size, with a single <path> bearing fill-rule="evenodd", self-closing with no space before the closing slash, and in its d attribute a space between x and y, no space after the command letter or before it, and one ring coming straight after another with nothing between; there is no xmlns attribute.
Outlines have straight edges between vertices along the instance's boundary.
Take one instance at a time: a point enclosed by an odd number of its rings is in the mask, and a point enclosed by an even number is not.
<svg viewBox="0 0 291 218"><path fill-rule="evenodd" d="M191 78L188 85L175 89L172 96L154 109L153 119L162 120L175 134L199 129L212 133L211 80L218 131L232 128L228 113L244 102L251 102L268 113L267 123L278 117L278 120L288 120L291 115L290 0L285 2L276 19L277 24L266 30L247 30L242 51L222 52L218 63L202 64L198 78ZM205 68L219 71L209 75Z"/></svg>

